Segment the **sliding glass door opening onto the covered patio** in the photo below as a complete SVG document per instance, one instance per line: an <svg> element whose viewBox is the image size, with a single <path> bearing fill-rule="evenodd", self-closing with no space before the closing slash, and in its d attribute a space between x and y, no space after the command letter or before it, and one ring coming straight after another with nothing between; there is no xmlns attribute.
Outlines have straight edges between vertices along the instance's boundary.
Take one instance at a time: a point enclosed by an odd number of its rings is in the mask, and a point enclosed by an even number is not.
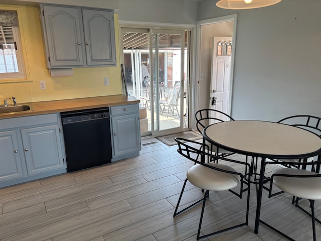
<svg viewBox="0 0 321 241"><path fill-rule="evenodd" d="M122 28L127 91L141 100L142 136L162 136L188 127L189 34Z"/></svg>

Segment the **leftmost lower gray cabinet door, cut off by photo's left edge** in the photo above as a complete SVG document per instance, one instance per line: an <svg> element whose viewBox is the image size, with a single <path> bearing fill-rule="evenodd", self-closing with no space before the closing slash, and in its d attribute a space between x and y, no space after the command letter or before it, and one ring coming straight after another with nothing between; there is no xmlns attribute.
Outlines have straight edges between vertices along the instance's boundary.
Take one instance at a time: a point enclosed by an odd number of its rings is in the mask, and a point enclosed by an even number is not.
<svg viewBox="0 0 321 241"><path fill-rule="evenodd" d="M23 176L16 131L0 132L0 182Z"/></svg>

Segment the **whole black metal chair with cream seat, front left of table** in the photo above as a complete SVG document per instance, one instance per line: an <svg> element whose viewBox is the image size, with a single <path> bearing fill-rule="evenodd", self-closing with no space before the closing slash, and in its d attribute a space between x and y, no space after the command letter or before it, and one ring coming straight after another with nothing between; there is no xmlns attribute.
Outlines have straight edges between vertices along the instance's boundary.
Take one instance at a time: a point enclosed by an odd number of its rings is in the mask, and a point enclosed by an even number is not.
<svg viewBox="0 0 321 241"><path fill-rule="evenodd" d="M187 139L183 138L175 138L176 142L178 143L178 152L186 157L187 159L193 161L195 165L193 165L188 171L187 171L187 178L184 182L178 203L175 208L174 217L179 215L180 213L186 211L187 209L191 208L192 206L198 204L199 202L203 201L202 211L201 211L201 217L197 232L197 240L203 237L207 237L210 235L214 235L220 232L224 232L236 227L240 227L243 225L248 224L248 213L249 213L249 197L250 197L250 180L246 181L244 179L244 175L240 172L237 172L234 170L231 166L229 166L229 163L235 164L242 164L244 166L247 166L250 170L250 165L245 162L240 162L236 160L226 159L221 156L214 156L213 154L209 153L208 151L203 151L200 149L202 146L202 143L198 143L195 141L189 141ZM207 159L219 159L220 162L226 161L228 164L218 164L218 163L208 163L205 162ZM244 167L245 168L245 167ZM202 190L206 190L204 193L204 197L193 204L189 205L188 207L178 211L183 192L186 186L187 181L190 181L194 186L201 188ZM246 184L247 187L243 188L243 184ZM239 186L239 191L231 190L232 188L235 188ZM224 228L219 231L215 231L209 234L205 234L203 236L200 236L201 227L202 227L202 220L203 220L203 213L205 208L206 199L209 197L209 191L230 191L239 198L243 197L243 192L247 191L247 204L246 204L246 214L245 214L245 222Z"/></svg>

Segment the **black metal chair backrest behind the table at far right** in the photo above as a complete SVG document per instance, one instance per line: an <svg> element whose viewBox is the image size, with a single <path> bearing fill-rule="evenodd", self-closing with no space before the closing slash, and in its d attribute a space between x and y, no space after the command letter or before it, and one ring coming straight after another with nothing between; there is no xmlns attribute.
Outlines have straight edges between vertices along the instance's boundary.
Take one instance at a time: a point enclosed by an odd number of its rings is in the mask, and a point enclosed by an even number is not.
<svg viewBox="0 0 321 241"><path fill-rule="evenodd" d="M280 119L277 123L299 127L321 137L321 118L312 115L293 115Z"/></svg>

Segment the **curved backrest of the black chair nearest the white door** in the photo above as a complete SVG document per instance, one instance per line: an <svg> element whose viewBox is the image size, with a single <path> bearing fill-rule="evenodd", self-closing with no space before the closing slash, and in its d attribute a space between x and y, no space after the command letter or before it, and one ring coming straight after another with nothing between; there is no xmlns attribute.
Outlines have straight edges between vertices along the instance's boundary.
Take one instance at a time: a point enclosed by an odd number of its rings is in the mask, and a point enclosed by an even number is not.
<svg viewBox="0 0 321 241"><path fill-rule="evenodd" d="M195 119L196 128L201 134L211 120L214 122L234 121L230 115L216 109L200 109L196 111Z"/></svg>

